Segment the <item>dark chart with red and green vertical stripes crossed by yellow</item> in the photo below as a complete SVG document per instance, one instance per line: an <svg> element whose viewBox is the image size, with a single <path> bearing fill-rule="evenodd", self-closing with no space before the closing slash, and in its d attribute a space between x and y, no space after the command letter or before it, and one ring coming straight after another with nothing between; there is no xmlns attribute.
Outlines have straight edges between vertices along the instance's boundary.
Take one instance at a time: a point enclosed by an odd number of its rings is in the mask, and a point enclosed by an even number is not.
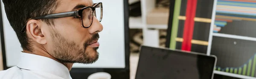
<svg viewBox="0 0 256 79"><path fill-rule="evenodd" d="M169 48L207 53L214 0L175 0Z"/></svg>

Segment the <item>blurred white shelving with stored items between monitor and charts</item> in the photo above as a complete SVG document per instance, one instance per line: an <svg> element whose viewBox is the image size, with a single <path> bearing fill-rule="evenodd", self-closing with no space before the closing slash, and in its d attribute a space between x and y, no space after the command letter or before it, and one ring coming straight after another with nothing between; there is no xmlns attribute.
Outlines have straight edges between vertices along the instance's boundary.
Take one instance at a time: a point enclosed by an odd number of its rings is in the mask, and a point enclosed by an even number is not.
<svg viewBox="0 0 256 79"><path fill-rule="evenodd" d="M134 79L140 45L165 47L169 0L129 0L129 4L130 75Z"/></svg>

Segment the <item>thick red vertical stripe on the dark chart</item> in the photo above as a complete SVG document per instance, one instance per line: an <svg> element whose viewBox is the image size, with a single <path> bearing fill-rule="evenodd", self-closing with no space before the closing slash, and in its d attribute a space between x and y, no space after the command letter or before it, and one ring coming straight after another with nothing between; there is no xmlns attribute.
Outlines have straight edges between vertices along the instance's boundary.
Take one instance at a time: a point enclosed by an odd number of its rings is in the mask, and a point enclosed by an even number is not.
<svg viewBox="0 0 256 79"><path fill-rule="evenodd" d="M193 38L194 31L194 18L196 13L197 0L187 0L186 6L186 20L183 30L183 42L181 50L191 51L191 40Z"/></svg>

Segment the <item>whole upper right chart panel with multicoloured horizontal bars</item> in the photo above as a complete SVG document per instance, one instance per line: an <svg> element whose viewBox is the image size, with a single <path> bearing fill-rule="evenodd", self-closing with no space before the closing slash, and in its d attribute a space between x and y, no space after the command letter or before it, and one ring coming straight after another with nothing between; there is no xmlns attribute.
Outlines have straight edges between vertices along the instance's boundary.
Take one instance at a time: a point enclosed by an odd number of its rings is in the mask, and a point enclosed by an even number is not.
<svg viewBox="0 0 256 79"><path fill-rule="evenodd" d="M252 25L247 24L252 22L256 22L256 0L217 1L214 33L256 37Z"/></svg>

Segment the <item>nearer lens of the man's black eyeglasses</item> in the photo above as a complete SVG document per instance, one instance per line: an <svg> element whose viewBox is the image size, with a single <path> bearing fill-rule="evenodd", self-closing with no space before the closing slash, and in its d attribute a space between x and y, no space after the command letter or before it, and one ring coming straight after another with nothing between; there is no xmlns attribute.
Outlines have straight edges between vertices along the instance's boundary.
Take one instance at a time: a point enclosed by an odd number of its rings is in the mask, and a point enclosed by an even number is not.
<svg viewBox="0 0 256 79"><path fill-rule="evenodd" d="M93 10L91 8L84 9L82 19L84 27L89 27L93 21Z"/></svg>

